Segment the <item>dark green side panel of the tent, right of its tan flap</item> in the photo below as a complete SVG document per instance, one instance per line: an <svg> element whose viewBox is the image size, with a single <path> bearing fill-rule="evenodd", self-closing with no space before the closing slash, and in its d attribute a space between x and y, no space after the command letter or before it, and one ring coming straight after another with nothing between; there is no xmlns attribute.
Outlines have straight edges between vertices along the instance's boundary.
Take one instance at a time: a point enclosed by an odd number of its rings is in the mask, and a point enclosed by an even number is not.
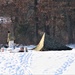
<svg viewBox="0 0 75 75"><path fill-rule="evenodd" d="M72 48L67 47L66 45L62 44L61 42L58 42L56 39L51 38L49 35L46 34L43 51L44 50L60 51L60 50L72 50Z"/></svg>

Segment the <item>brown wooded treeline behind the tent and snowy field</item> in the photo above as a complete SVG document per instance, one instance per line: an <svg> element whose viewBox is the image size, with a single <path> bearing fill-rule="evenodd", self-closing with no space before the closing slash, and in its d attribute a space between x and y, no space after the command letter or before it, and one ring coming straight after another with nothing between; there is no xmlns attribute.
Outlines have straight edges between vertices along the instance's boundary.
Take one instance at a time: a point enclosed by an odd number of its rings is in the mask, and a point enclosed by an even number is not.
<svg viewBox="0 0 75 75"><path fill-rule="evenodd" d="M0 16L10 17L4 30L13 32L16 43L37 44L42 32L75 43L74 0L0 0Z"/></svg>

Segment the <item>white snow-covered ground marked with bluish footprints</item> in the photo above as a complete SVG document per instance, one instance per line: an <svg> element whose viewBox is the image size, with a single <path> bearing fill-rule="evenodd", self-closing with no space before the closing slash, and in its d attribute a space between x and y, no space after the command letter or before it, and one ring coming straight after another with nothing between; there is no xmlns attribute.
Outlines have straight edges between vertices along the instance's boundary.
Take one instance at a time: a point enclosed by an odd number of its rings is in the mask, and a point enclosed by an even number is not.
<svg viewBox="0 0 75 75"><path fill-rule="evenodd" d="M68 46L73 50L0 52L0 75L74 75L75 45Z"/></svg>

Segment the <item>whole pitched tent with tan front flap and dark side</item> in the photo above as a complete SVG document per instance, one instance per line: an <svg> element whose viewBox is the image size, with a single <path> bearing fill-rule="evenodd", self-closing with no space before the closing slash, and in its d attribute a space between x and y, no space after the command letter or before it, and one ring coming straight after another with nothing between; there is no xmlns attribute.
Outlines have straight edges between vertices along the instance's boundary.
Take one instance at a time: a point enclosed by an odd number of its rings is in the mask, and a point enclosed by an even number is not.
<svg viewBox="0 0 75 75"><path fill-rule="evenodd" d="M58 42L56 39L51 38L47 34L43 34L39 44L33 50L36 51L61 51L72 50L72 48Z"/></svg>

